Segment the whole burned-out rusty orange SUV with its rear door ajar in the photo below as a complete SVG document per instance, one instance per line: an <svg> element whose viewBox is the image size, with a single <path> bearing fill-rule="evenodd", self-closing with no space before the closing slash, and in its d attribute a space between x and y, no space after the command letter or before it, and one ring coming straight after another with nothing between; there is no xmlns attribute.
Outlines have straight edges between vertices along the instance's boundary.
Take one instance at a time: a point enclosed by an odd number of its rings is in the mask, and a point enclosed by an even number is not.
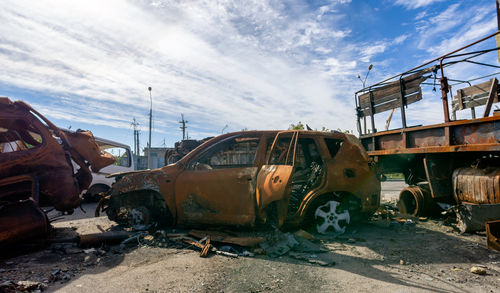
<svg viewBox="0 0 500 293"><path fill-rule="evenodd" d="M114 176L103 208L129 224L308 223L319 233L343 232L380 199L368 155L356 137L340 132L227 133L175 164Z"/></svg>

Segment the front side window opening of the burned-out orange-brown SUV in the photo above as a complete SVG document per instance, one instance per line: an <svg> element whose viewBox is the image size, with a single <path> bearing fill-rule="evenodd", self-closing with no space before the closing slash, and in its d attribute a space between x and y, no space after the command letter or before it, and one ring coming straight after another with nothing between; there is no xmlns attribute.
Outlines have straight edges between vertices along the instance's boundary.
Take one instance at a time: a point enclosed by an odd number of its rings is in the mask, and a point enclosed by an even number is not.
<svg viewBox="0 0 500 293"><path fill-rule="evenodd" d="M236 137L221 141L191 163L195 170L241 168L254 165L258 137Z"/></svg>

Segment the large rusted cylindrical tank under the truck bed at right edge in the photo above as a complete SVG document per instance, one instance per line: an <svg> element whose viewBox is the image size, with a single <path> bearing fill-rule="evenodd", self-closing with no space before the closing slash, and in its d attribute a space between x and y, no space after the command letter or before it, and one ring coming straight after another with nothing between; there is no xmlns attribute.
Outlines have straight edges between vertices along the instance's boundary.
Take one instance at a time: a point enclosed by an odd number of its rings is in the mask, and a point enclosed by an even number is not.
<svg viewBox="0 0 500 293"><path fill-rule="evenodd" d="M458 168L453 172L453 194L458 203L500 203L500 168Z"/></svg>

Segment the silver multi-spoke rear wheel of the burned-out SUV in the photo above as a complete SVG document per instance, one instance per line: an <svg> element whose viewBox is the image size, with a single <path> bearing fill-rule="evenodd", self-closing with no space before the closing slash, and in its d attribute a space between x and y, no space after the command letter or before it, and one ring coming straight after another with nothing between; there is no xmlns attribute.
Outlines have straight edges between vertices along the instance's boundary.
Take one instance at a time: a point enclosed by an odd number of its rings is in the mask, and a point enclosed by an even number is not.
<svg viewBox="0 0 500 293"><path fill-rule="evenodd" d="M342 234L350 221L349 210L336 200L319 204L314 211L314 229L319 234Z"/></svg>

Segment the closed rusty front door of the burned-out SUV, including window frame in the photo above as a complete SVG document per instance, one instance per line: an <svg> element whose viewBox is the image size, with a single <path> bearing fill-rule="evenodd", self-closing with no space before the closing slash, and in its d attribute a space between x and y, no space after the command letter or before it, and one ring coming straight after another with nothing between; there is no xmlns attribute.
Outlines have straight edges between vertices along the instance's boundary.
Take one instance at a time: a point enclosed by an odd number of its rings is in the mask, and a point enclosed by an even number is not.
<svg viewBox="0 0 500 293"><path fill-rule="evenodd" d="M175 183L179 224L254 223L260 141L258 134L227 137L187 163Z"/></svg>

